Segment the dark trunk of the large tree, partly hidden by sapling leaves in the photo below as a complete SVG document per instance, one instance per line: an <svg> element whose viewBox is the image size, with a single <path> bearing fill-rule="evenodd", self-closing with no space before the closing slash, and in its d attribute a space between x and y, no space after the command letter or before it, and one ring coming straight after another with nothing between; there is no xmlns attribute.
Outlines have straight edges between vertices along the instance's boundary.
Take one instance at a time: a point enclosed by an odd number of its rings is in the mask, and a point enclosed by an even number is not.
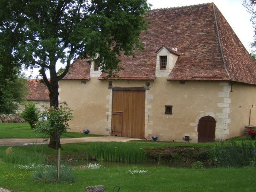
<svg viewBox="0 0 256 192"><path fill-rule="evenodd" d="M55 78L51 78L50 81L51 89L49 90L49 98L50 98L50 106L54 108L58 108L58 80ZM60 141L60 133L57 131L55 134L52 134L50 137L50 142L48 145L49 148L54 148L58 150L61 148L61 141Z"/></svg>

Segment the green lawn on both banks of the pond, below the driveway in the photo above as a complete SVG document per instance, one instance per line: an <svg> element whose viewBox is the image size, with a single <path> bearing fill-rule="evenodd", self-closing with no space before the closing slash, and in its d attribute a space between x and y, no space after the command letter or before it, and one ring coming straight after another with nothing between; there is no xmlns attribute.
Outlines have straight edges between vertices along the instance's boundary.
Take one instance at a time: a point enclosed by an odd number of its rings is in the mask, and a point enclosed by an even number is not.
<svg viewBox="0 0 256 192"><path fill-rule="evenodd" d="M63 144L61 157L85 154L99 142ZM167 142L131 142L107 143L117 148L154 148L160 146L177 146L181 143ZM194 146L195 144L186 143ZM212 144L214 145L214 144ZM206 146L206 144L197 144ZM247 168L173 168L169 166L142 166L136 164L117 164L118 166L105 166L99 169L73 170L75 182L73 183L41 183L32 178L35 169L20 169L13 163L4 163L4 154L7 146L0 146L0 187L15 192L83 192L86 186L104 185L106 192L112 192L115 186L120 186L120 192L251 192L255 191L256 167ZM20 154L43 154L46 157L56 156L56 151L46 145L13 146L15 152ZM26 155L26 156L29 156ZM23 156L24 157L24 156ZM17 158L17 157L16 157ZM56 159L50 159L56 162ZM62 160L62 164L67 159ZM81 159L80 159L81 160ZM31 163L25 161L26 163ZM36 163L36 162L35 162ZM37 162L40 164L40 162ZM83 164L84 163L84 164ZM80 165L86 165L81 161ZM134 170L145 170L146 173L131 173Z"/></svg>

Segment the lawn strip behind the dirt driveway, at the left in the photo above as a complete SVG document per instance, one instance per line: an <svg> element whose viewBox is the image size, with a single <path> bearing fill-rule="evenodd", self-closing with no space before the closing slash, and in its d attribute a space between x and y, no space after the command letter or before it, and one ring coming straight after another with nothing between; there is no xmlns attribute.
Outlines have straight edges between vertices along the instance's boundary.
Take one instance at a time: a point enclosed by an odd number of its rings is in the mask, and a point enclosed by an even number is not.
<svg viewBox="0 0 256 192"><path fill-rule="evenodd" d="M102 135L67 132L62 134L61 138L98 136ZM38 134L32 130L28 123L0 123L0 138L43 138L43 134Z"/></svg>

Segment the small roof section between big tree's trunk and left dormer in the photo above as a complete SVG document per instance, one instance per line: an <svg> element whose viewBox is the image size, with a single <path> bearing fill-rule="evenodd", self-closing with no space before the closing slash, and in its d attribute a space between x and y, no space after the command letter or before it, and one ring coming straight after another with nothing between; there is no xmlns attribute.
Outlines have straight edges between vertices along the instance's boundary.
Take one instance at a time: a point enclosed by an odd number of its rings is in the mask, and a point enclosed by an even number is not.
<svg viewBox="0 0 256 192"><path fill-rule="evenodd" d="M63 79L90 79L90 64L85 59L76 59Z"/></svg>

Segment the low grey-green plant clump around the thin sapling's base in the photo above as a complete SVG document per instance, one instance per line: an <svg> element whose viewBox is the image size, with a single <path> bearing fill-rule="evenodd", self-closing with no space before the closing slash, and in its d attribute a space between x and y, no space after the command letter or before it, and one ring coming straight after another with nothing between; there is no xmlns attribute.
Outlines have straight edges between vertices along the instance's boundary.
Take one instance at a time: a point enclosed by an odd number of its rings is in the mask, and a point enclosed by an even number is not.
<svg viewBox="0 0 256 192"><path fill-rule="evenodd" d="M55 166L46 166L39 168L33 174L33 178L36 181L43 183L58 183L58 182L74 182L73 170L65 166L61 167L60 179L57 179L57 169Z"/></svg>

